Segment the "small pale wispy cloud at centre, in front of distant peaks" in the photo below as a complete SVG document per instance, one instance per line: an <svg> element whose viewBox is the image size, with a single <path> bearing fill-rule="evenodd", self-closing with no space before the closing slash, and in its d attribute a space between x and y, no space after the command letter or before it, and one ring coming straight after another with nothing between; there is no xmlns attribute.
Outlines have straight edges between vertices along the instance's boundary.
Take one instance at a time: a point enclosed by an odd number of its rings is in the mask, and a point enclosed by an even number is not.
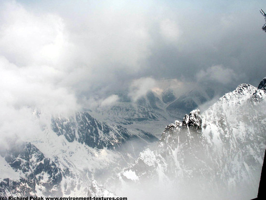
<svg viewBox="0 0 266 200"><path fill-rule="evenodd" d="M133 101L136 101L155 86L156 80L151 77L144 77L133 80L130 87L129 96Z"/></svg>

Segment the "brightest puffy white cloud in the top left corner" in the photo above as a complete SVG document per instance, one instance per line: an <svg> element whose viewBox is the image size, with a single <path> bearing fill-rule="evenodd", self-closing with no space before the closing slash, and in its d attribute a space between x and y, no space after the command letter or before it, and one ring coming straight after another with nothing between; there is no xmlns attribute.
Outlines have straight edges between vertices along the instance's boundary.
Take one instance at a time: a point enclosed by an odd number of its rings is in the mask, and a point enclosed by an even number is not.
<svg viewBox="0 0 266 200"><path fill-rule="evenodd" d="M0 12L1 55L18 66L60 66L70 47L61 17L30 13L15 1L3 4Z"/></svg>

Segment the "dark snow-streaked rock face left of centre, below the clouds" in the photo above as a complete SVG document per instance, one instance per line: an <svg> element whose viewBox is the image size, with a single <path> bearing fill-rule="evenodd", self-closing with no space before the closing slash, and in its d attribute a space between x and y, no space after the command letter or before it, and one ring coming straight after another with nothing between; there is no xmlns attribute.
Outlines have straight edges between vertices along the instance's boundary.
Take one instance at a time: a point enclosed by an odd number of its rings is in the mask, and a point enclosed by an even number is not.
<svg viewBox="0 0 266 200"><path fill-rule="evenodd" d="M76 140L97 149L105 147L116 149L123 143L139 137L147 141L157 140L156 137L144 131L139 136L120 125L99 122L88 112L77 112L75 116L69 118L52 118L51 128L58 136L65 136L69 142Z"/></svg>

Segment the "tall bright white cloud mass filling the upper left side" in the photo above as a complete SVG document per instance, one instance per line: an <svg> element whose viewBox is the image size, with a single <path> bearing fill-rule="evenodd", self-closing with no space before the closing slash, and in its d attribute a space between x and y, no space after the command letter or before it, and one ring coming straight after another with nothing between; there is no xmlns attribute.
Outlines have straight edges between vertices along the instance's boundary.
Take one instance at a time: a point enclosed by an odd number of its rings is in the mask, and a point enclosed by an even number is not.
<svg viewBox="0 0 266 200"><path fill-rule="evenodd" d="M47 113L79 109L75 93L61 84L68 74L68 33L56 14L29 12L15 1L0 6L2 106Z"/></svg>

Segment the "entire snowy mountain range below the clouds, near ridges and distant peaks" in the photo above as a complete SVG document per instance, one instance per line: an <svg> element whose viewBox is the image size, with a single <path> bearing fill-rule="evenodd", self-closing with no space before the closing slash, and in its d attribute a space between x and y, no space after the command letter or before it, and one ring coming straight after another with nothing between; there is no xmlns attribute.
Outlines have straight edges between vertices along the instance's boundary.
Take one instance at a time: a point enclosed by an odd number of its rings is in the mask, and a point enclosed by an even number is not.
<svg viewBox="0 0 266 200"><path fill-rule="evenodd" d="M266 78L258 88L239 85L202 114L185 114L214 96L148 92L134 104L67 117L34 111L47 121L41 134L10 138L0 149L0 195L255 198L266 148ZM159 141L148 133L178 113L185 117Z"/></svg>

